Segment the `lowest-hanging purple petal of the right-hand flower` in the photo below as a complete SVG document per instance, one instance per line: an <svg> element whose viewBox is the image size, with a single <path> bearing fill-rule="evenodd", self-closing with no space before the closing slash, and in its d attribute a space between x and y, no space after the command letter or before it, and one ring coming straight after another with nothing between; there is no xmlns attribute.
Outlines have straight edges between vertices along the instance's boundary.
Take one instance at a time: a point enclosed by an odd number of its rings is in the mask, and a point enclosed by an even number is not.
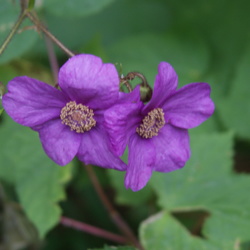
<svg viewBox="0 0 250 250"><path fill-rule="evenodd" d="M125 176L125 186L133 191L142 189L149 181L154 169L157 148L150 140L139 135L131 136L128 145L128 169Z"/></svg>

